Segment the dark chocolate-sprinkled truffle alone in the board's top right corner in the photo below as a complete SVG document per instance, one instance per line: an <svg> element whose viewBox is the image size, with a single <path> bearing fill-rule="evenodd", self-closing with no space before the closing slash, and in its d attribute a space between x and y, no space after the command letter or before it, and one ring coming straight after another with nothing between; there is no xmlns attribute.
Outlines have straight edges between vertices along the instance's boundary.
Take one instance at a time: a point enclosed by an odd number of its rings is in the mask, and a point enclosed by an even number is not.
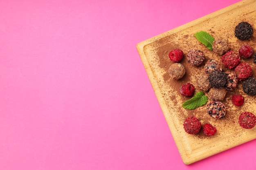
<svg viewBox="0 0 256 170"><path fill-rule="evenodd" d="M240 22L235 28L235 36L240 40L249 40L252 34L252 25L248 22Z"/></svg>

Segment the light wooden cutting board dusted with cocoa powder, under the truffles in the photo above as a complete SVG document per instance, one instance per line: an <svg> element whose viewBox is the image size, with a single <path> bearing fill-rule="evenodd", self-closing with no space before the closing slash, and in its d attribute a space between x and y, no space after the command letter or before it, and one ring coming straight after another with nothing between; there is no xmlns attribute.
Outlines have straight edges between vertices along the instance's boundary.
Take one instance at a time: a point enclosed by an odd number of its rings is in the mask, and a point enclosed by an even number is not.
<svg viewBox="0 0 256 170"><path fill-rule="evenodd" d="M234 36L235 26L242 21L249 22L254 28L250 40L242 41ZM207 104L195 110L182 108L182 103L189 97L180 95L180 86L190 82L194 84L195 93L197 93L199 91L196 86L197 78L205 74L203 71L205 62L215 59L222 64L220 55L207 49L195 38L194 33L199 31L206 31L215 39L218 37L226 39L230 50L236 53L238 53L240 46L245 44L252 46L256 51L255 0L243 0L137 44L137 51L185 164L191 164L256 139L256 127L244 129L238 124L240 113L249 111L256 114L256 96L246 95L242 90L242 82L238 83L236 91L228 91L225 100L222 101L227 109L227 113L222 119L214 119L208 115L206 112ZM186 55L189 49L193 48L204 52L206 60L202 66L195 67L188 64ZM184 52L181 63L186 68L186 74L182 79L176 81L168 75L168 68L173 64L168 58L168 53L172 49L181 49ZM253 69L252 77L256 77L256 64L253 63L252 57L241 59L241 62L249 63ZM232 71L227 70L224 66L223 69L224 71ZM233 94L240 94L245 97L243 106L238 107L232 104L231 95ZM207 103L209 102L210 99ZM183 122L190 115L198 117L202 124L210 123L215 126L217 128L216 134L212 137L206 137L202 130L197 135L187 134L184 131Z"/></svg>

